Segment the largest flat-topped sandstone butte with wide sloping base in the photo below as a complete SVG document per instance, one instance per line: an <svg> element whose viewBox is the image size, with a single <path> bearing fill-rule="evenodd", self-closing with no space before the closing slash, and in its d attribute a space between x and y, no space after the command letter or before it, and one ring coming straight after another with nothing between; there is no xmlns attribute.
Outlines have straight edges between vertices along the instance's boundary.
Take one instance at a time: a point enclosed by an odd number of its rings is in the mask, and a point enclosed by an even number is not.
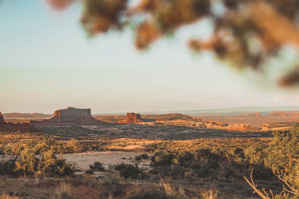
<svg viewBox="0 0 299 199"><path fill-rule="evenodd" d="M44 119L42 121L30 121L36 126L73 126L73 125L93 125L103 124L103 121L97 120L91 116L89 109L76 109L68 107L66 109L59 109L54 112L54 117L51 119Z"/></svg>

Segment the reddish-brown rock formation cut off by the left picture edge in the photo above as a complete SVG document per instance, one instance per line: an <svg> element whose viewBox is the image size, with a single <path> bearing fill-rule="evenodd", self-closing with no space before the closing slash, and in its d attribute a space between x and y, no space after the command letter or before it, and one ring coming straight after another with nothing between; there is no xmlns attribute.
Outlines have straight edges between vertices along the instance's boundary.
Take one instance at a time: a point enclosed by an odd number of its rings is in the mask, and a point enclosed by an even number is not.
<svg viewBox="0 0 299 199"><path fill-rule="evenodd" d="M0 131L40 132L42 130L36 129L32 123L7 123L4 121L3 115L0 112Z"/></svg>

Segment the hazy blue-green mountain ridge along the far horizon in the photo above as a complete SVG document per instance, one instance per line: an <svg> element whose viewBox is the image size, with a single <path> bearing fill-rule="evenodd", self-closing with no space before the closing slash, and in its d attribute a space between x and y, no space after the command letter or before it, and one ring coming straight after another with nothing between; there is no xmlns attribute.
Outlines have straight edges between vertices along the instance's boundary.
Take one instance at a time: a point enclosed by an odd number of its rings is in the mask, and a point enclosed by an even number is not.
<svg viewBox="0 0 299 199"><path fill-rule="evenodd" d="M299 106L281 106L281 107L234 107L234 108L219 108L219 109L196 109L196 110L170 110L170 111L147 111L137 112L140 114L169 114L169 113L226 113L226 112L263 112L263 111L296 111ZM93 115L122 115L126 112L98 113Z"/></svg>

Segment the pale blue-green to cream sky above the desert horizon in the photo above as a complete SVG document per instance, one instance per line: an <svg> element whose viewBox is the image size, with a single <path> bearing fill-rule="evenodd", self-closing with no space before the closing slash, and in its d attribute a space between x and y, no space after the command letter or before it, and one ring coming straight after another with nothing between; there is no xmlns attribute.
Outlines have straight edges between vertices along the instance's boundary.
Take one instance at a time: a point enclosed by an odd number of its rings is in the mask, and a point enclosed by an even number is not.
<svg viewBox="0 0 299 199"><path fill-rule="evenodd" d="M0 0L0 111L53 113L66 107L92 114L296 106L298 88L273 77L295 61L286 47L263 71L238 71L210 52L193 53L190 38L208 38L208 19L161 38L148 50L134 34L110 31L87 37L81 5L57 11L45 0ZM271 74L271 75L269 75Z"/></svg>

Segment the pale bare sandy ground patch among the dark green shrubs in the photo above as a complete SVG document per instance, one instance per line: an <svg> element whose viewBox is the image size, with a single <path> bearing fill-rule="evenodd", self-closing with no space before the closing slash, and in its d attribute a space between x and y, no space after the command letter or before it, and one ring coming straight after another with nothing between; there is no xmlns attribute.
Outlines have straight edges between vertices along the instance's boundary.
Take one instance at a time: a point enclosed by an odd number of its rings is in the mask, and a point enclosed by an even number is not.
<svg viewBox="0 0 299 199"><path fill-rule="evenodd" d="M81 169L86 171L89 169L89 165L93 164L95 161L100 161L104 164L105 168L108 169L108 164L119 164L119 163L129 163L133 164L135 162L135 155L140 155L141 152L123 152L123 151L88 151L86 153L77 154L63 154L62 157L65 158L66 163L71 163L76 169ZM152 153L147 153L149 157L153 156ZM126 158L125 160L121 158ZM129 160L129 158L132 158ZM138 161L140 162L140 167L148 167L151 163L150 158L147 160Z"/></svg>

